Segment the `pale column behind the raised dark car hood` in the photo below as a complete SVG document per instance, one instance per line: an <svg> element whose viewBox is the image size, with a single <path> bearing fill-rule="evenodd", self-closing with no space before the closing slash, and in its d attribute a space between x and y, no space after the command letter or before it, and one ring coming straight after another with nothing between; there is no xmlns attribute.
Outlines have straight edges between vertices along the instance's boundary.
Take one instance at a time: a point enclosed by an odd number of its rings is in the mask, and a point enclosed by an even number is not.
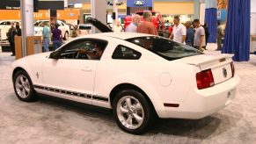
<svg viewBox="0 0 256 144"><path fill-rule="evenodd" d="M106 1L91 0L91 17L106 25ZM92 26L92 33L98 32L99 30Z"/></svg>

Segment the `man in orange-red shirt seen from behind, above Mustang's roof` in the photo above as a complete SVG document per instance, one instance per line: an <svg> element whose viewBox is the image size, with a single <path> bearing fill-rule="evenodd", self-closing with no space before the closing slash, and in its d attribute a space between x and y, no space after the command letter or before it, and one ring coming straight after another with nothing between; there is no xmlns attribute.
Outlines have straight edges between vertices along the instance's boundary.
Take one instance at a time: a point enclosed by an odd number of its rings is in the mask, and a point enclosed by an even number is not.
<svg viewBox="0 0 256 144"><path fill-rule="evenodd" d="M137 32L158 35L155 25L151 22L152 13L150 11L144 11L143 18L144 21L138 25Z"/></svg>

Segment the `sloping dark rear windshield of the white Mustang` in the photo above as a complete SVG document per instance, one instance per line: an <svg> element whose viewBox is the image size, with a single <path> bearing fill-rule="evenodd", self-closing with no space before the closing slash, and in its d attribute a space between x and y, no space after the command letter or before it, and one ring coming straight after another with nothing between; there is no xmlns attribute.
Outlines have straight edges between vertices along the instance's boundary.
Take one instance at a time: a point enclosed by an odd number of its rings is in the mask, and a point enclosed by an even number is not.
<svg viewBox="0 0 256 144"><path fill-rule="evenodd" d="M150 50L168 61L177 60L187 56L202 54L199 50L188 47L187 45L174 42L161 37L138 37L128 39L127 41L134 43L140 47Z"/></svg>

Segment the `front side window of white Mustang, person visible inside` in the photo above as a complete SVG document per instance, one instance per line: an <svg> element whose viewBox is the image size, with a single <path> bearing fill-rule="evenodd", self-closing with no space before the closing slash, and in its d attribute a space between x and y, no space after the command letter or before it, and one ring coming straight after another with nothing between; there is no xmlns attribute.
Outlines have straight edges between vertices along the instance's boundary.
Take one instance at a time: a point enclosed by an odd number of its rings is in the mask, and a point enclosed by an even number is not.
<svg viewBox="0 0 256 144"><path fill-rule="evenodd" d="M106 41L75 40L60 49L60 59L100 60Z"/></svg>

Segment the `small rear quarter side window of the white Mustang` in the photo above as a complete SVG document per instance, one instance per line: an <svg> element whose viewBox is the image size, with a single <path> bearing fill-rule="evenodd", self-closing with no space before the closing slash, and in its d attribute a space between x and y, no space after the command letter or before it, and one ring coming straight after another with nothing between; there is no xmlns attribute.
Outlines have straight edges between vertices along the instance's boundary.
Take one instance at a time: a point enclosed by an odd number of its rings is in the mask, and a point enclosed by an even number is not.
<svg viewBox="0 0 256 144"><path fill-rule="evenodd" d="M113 51L112 58L121 59L121 60L139 60L141 56L142 54L140 52L137 52L134 49L119 45Z"/></svg>

